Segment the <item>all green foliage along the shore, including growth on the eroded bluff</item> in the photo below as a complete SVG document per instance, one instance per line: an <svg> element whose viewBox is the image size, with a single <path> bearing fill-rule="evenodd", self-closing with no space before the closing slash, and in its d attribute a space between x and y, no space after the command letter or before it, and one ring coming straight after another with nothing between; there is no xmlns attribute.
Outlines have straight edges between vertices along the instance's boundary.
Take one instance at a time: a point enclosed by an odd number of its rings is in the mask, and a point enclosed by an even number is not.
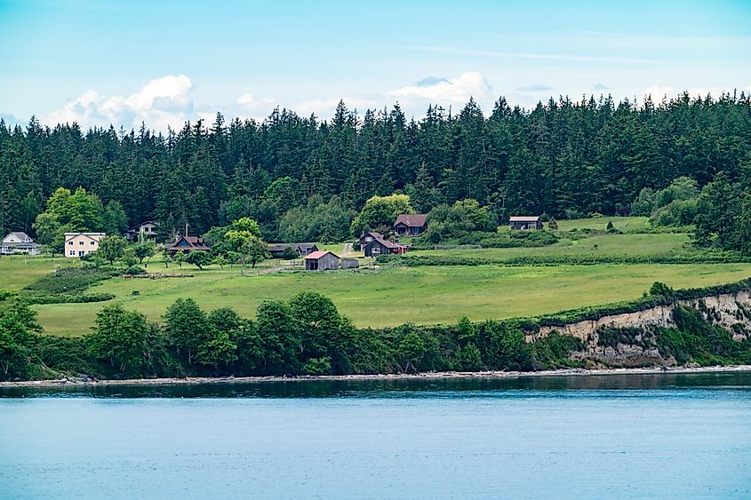
<svg viewBox="0 0 751 500"><path fill-rule="evenodd" d="M17 294L4 292L0 294L0 325L14 326L0 329L4 332L0 367L8 367L4 377L39 377L44 366L103 377L579 367L581 362L572 354L583 349L581 340L556 332L533 342L526 336L541 326L595 321L604 315L739 290L751 290L751 282L675 290L669 298L648 296L548 317L480 323L463 318L453 325L408 323L394 329L355 329L329 298L315 292L302 292L289 301L264 302L255 321L241 318L228 307L207 314L193 300L181 298L164 314L163 327L122 306L105 307L83 342L37 337L33 311ZM712 326L699 311L675 306L674 320L675 329L654 328L646 334L642 329L599 329L599 343L656 345L663 357L672 356L679 363L751 360L751 342L732 340L730 332Z"/></svg>

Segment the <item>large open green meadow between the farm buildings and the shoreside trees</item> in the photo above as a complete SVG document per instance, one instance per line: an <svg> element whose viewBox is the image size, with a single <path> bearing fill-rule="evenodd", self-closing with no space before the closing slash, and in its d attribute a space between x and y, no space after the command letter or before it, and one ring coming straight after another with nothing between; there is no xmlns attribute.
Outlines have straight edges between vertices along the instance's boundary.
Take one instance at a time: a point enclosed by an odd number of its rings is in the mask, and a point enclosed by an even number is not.
<svg viewBox="0 0 751 500"><path fill-rule="evenodd" d="M193 271L191 271L193 272ZM194 278L123 280L90 289L111 292L128 309L157 320L177 298L195 298L205 309L232 306L246 317L267 298L290 298L316 290L332 298L357 326L403 322L445 323L555 313L638 298L652 282L691 288L737 282L751 276L751 264L602 265L555 267L428 266L387 267L359 273L273 273L240 276L238 268L208 268ZM133 296L132 291L139 295ZM35 306L44 329L54 335L89 331L101 307L110 304Z"/></svg>

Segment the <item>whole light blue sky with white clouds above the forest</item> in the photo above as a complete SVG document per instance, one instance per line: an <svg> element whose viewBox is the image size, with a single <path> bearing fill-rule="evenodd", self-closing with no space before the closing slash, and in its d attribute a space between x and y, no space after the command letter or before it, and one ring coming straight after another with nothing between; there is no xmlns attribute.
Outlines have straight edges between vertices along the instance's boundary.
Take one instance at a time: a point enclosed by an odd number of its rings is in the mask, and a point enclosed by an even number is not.
<svg viewBox="0 0 751 500"><path fill-rule="evenodd" d="M504 96L751 91L751 0L0 0L0 117L165 131Z"/></svg>

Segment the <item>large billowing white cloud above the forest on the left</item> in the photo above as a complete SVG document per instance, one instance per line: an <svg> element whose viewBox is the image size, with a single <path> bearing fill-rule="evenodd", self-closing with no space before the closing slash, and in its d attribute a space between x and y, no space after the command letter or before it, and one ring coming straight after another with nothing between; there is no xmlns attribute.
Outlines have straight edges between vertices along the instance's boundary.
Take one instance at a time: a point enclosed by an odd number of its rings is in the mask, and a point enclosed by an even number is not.
<svg viewBox="0 0 751 500"><path fill-rule="evenodd" d="M89 90L44 116L43 121L77 122L83 127L108 127L111 123L128 129L144 122L148 128L159 131L165 131L167 126L179 129L195 116L196 106L190 95L193 88L186 75L166 75L149 81L130 96L107 96Z"/></svg>

